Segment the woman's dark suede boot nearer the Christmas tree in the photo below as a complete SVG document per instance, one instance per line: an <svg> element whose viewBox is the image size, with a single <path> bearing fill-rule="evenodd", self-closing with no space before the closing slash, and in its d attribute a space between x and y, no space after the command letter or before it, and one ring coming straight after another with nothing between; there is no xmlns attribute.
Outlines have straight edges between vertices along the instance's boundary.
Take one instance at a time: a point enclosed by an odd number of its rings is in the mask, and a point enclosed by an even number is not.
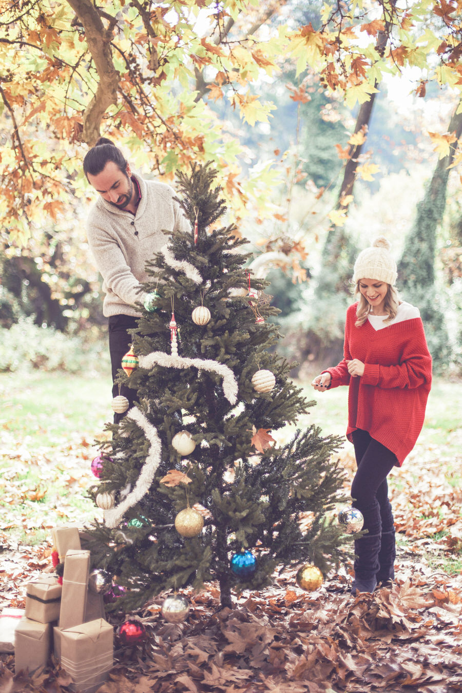
<svg viewBox="0 0 462 693"><path fill-rule="evenodd" d="M382 521L378 503L362 510L364 529L368 534L355 540L355 579L351 585L351 594L373 592L377 585L376 574L380 569L379 552L382 536Z"/></svg>

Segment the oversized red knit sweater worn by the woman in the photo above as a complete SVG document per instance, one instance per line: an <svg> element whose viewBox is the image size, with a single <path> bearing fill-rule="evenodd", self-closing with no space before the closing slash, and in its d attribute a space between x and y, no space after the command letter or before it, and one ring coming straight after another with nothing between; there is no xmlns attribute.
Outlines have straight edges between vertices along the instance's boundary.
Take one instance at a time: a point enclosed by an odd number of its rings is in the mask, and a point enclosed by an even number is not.
<svg viewBox="0 0 462 693"><path fill-rule="evenodd" d="M403 320L375 331L368 320L355 327L356 307L346 313L344 360L328 369L330 387L349 385L348 440L355 429L366 430L401 466L422 430L432 384L422 320ZM364 363L364 375L348 373L346 361L353 358Z"/></svg>

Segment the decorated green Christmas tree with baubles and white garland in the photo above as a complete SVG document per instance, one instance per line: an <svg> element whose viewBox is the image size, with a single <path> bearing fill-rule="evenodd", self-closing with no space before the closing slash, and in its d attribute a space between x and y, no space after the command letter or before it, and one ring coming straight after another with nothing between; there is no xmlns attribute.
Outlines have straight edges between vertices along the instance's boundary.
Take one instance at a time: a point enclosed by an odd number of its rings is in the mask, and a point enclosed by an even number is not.
<svg viewBox="0 0 462 693"><path fill-rule="evenodd" d="M105 521L91 529L92 568L123 590L117 608L140 608L165 590L271 584L276 569L338 565L345 535L334 510L344 475L337 437L315 426L277 444L272 434L313 404L272 350L266 285L246 270L247 241L218 227L226 207L209 164L177 175L189 234L166 236L148 262L121 382L139 405L118 425L93 489ZM303 527L301 526L303 520Z"/></svg>

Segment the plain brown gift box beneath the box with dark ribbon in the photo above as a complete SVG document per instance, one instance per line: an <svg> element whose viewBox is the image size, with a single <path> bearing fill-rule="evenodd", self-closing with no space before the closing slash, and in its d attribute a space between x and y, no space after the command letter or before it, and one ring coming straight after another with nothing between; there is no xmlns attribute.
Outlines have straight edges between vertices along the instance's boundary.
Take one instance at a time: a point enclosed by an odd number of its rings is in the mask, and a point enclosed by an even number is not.
<svg viewBox="0 0 462 693"><path fill-rule="evenodd" d="M50 646L51 624L22 617L15 631L15 672L23 669L33 672L38 667L44 667Z"/></svg>

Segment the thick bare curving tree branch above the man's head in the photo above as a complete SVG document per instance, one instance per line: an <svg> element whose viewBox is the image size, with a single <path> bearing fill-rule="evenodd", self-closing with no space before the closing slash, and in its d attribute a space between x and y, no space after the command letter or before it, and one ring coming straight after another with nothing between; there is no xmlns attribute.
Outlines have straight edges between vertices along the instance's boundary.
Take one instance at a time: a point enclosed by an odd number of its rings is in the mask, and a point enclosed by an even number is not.
<svg viewBox="0 0 462 693"><path fill-rule="evenodd" d="M105 14L109 27L105 29L98 10L91 0L67 0L85 29L85 39L93 58L99 82L94 98L83 114L82 141L93 146L100 136L100 125L107 108L117 103L119 73L112 62L110 41L117 20Z"/></svg>

